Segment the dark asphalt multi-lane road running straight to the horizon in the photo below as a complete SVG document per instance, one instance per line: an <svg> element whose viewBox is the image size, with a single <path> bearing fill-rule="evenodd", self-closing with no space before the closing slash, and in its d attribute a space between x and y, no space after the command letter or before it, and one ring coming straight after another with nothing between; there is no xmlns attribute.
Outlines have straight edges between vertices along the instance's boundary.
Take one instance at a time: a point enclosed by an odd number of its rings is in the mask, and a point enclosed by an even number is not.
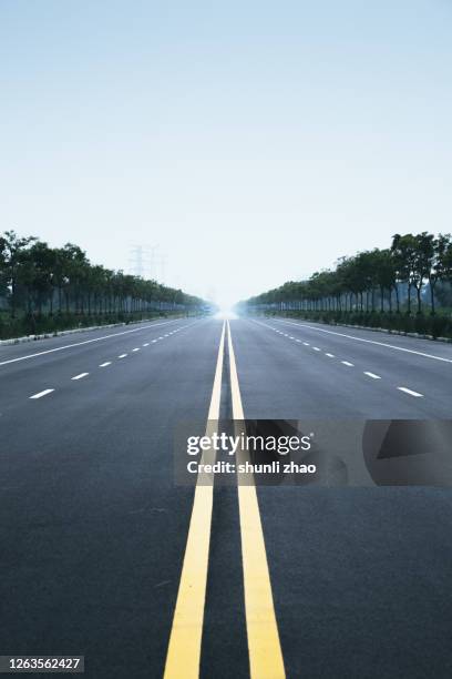
<svg viewBox="0 0 452 679"><path fill-rule="evenodd" d="M250 668L278 679L278 652L290 678L449 679L451 490L210 497L175 482L174 434L188 422L203 435L208 413L240 419L240 408L451 418L451 345L286 320L232 321L230 334L216 320L161 321L0 347L0 655L84 655L85 676L101 679L165 668L191 679L193 659L205 679ZM177 628L184 588L192 612ZM187 658L175 670L170 639Z"/></svg>

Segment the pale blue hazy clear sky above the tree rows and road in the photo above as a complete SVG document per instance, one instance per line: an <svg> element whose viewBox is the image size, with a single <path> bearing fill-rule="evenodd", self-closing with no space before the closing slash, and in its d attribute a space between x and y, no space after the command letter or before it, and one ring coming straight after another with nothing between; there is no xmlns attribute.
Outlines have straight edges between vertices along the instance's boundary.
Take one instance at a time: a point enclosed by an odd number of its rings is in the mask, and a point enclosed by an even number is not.
<svg viewBox="0 0 452 679"><path fill-rule="evenodd" d="M0 232L223 305L452 231L452 4L0 0ZM150 272L152 273L152 272Z"/></svg>

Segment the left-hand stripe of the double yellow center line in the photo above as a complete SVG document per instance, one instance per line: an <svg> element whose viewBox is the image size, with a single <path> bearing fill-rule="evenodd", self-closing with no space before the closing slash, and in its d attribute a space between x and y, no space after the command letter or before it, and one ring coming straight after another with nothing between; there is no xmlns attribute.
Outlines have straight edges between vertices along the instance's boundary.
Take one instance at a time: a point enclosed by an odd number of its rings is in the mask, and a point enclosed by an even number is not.
<svg viewBox="0 0 452 679"><path fill-rule="evenodd" d="M212 389L206 435L217 428L222 395L225 323L219 341L218 357ZM213 454L215 456L215 453ZM215 462L206 459L202 463ZM184 565L182 568L176 608L165 663L165 679L197 679L199 676L201 642L206 598L208 550L210 541L213 479L198 474L193 500Z"/></svg>

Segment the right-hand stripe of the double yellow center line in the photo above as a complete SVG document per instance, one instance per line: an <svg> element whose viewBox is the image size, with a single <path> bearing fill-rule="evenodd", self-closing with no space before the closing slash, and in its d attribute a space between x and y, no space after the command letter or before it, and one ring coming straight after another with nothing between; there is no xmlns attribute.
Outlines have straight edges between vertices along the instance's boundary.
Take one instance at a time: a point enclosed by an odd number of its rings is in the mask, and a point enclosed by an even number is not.
<svg viewBox="0 0 452 679"><path fill-rule="evenodd" d="M235 420L243 420L245 417L229 322L227 322L227 343L233 417ZM242 425L238 422L236 426L239 428ZM243 455L237 462L245 459ZM253 476L245 474L238 474L237 483L250 676L251 679L284 679L286 671L276 622L256 486Z"/></svg>

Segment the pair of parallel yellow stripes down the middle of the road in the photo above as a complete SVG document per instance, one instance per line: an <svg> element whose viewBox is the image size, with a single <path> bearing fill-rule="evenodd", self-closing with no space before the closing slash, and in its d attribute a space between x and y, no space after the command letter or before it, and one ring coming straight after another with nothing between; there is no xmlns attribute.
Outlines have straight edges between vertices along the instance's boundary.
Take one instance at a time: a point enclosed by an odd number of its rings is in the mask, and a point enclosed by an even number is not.
<svg viewBox="0 0 452 679"><path fill-rule="evenodd" d="M219 341L206 435L210 435L217 428L219 419L226 333L233 418L236 420L237 429L243 426L244 409L237 366L230 326L226 322L223 324ZM214 493L213 480L208 485L204 484L205 479L198 476L166 656L165 679L197 679L199 676ZM237 484L250 677L251 679L284 679L286 672L256 487L253 479L245 475L237 476Z"/></svg>

